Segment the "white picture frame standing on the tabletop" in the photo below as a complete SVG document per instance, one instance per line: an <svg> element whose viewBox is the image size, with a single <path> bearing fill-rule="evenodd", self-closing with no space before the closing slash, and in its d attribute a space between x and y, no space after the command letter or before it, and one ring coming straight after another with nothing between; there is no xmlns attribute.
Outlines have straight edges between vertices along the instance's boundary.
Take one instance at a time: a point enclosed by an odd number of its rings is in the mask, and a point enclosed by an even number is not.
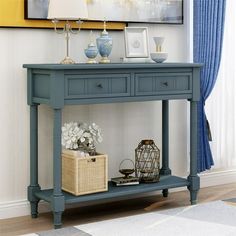
<svg viewBox="0 0 236 236"><path fill-rule="evenodd" d="M148 28L125 27L125 55L127 58L148 58Z"/></svg>

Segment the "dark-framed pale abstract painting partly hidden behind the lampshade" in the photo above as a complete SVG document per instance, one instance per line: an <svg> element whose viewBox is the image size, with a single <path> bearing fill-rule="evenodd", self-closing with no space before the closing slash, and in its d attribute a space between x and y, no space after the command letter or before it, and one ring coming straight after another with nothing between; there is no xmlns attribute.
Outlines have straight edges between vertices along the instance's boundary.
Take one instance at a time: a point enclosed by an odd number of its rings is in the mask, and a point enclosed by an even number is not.
<svg viewBox="0 0 236 236"><path fill-rule="evenodd" d="M86 0L89 19L109 22L183 23L183 0ZM46 19L49 0L25 0L26 19Z"/></svg>

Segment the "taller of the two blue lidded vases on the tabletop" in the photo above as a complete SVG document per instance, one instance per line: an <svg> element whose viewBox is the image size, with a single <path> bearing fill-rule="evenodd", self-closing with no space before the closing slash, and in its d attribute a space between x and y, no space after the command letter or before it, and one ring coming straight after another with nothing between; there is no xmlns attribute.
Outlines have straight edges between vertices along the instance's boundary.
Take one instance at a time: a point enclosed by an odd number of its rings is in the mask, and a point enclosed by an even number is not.
<svg viewBox="0 0 236 236"><path fill-rule="evenodd" d="M109 63L110 60L108 59L108 56L112 50L112 37L110 37L106 29L104 29L101 36L97 38L96 41L98 52L102 57L100 63Z"/></svg>

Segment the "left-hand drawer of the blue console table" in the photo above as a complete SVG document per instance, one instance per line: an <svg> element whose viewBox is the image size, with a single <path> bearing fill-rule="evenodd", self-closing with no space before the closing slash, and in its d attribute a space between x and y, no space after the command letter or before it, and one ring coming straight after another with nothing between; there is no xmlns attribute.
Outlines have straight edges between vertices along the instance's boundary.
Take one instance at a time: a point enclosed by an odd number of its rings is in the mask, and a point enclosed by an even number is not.
<svg viewBox="0 0 236 236"><path fill-rule="evenodd" d="M66 98L119 97L130 95L130 74L65 76Z"/></svg>

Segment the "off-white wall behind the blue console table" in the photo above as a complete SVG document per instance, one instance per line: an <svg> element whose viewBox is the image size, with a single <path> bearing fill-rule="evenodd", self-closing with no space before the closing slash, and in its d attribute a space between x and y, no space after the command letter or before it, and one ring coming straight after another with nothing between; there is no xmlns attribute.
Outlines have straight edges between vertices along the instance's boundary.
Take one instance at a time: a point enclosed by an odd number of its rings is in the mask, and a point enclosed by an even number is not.
<svg viewBox="0 0 236 236"><path fill-rule="evenodd" d="M168 61L188 59L188 25L148 25L150 51L153 36L164 36ZM95 32L98 35L99 32ZM113 62L124 56L124 32L110 32L113 37ZM71 39L71 56L85 62L83 49L89 31ZM1 52L1 155L0 155L0 218L16 215L14 207L22 206L18 215L29 214L26 205L29 185L29 107L26 101L24 63L57 63L64 56L64 37L53 30L0 29ZM170 103L170 165L174 174L187 174L187 109L186 102ZM117 103L68 106L63 121L94 121L103 130L104 142L98 150L109 155L109 176L118 175L122 159L133 158L134 149L144 138L153 138L161 148L161 103ZM39 109L39 181L52 186L52 111ZM26 209L27 208L27 209Z"/></svg>

